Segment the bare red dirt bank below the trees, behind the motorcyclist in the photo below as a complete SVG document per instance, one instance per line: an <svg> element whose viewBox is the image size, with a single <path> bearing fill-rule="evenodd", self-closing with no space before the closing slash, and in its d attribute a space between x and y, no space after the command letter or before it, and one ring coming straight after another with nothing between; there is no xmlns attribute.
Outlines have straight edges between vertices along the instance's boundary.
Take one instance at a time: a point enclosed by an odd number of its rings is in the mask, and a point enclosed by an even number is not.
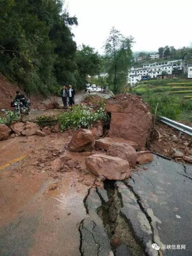
<svg viewBox="0 0 192 256"><path fill-rule="evenodd" d="M11 83L7 80L2 74L0 74L0 109L11 109L10 102L15 98L15 92L19 90L21 93L25 94L25 92L19 88L17 84ZM26 94L25 94L26 95ZM28 95L26 95L28 96ZM43 97L39 95L35 95L33 97L29 97L34 108L38 108L43 106L42 103Z"/></svg>

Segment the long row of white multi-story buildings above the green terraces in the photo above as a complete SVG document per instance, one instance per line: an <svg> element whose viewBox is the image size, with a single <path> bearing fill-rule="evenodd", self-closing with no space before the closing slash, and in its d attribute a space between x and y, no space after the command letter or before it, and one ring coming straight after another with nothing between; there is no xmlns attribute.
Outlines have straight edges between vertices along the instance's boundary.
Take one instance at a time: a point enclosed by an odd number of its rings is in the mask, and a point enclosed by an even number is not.
<svg viewBox="0 0 192 256"><path fill-rule="evenodd" d="M182 60L166 61L160 63L155 62L143 64L143 67L132 67L128 71L127 83L131 83L131 86L134 86L134 84L138 83L141 79L156 78L157 76L162 75L163 73L172 74L174 68L182 69L182 67Z"/></svg>

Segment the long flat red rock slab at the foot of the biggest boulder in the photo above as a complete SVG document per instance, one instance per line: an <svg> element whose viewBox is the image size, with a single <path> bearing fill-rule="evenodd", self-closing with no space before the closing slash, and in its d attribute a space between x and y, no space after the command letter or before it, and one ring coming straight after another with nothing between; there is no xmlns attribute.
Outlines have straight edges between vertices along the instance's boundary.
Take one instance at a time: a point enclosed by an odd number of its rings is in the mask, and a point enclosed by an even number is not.
<svg viewBox="0 0 192 256"><path fill-rule="evenodd" d="M101 138L99 140L96 140L95 141L95 148L108 150L110 148L110 146L115 144L115 143L124 143L124 144L127 144L129 146L132 146L134 149L139 148L137 143L135 143L131 140L125 140L125 139L117 138L117 137L114 137L114 138L105 137L105 138Z"/></svg>

